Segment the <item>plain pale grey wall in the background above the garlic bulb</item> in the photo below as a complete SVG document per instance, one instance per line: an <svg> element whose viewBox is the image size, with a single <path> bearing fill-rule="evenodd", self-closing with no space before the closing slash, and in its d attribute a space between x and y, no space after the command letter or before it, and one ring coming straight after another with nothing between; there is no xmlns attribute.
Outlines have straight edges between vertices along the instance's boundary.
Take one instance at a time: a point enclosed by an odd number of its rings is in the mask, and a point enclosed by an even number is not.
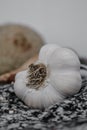
<svg viewBox="0 0 87 130"><path fill-rule="evenodd" d="M87 57L87 0L0 0L0 24L22 23L47 43L74 48Z"/></svg>

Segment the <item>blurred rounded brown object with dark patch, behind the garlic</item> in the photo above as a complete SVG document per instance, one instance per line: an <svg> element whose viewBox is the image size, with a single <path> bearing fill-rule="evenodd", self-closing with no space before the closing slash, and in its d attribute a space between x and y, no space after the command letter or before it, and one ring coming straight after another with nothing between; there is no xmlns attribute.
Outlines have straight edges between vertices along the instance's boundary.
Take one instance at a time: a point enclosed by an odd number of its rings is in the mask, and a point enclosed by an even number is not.
<svg viewBox="0 0 87 130"><path fill-rule="evenodd" d="M43 44L43 38L30 27L0 26L0 75L20 67L36 55Z"/></svg>

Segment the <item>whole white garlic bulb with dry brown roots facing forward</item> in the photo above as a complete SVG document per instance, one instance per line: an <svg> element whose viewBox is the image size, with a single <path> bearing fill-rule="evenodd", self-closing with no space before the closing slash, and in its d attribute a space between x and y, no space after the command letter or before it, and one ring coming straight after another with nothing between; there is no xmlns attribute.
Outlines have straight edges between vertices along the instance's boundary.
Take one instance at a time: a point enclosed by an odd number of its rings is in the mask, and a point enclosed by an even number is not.
<svg viewBox="0 0 87 130"><path fill-rule="evenodd" d="M70 49L44 45L37 62L15 77L16 95L30 107L46 108L60 103L81 88L80 62Z"/></svg>

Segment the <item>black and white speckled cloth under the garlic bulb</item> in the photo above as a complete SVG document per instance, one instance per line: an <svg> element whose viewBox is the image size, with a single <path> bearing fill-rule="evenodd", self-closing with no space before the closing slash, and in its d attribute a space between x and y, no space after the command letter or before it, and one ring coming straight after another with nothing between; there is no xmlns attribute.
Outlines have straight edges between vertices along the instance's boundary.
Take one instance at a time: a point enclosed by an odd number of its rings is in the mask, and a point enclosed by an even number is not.
<svg viewBox="0 0 87 130"><path fill-rule="evenodd" d="M87 130L87 66L82 61L80 92L45 110L27 107L16 97L13 84L1 84L0 130Z"/></svg>

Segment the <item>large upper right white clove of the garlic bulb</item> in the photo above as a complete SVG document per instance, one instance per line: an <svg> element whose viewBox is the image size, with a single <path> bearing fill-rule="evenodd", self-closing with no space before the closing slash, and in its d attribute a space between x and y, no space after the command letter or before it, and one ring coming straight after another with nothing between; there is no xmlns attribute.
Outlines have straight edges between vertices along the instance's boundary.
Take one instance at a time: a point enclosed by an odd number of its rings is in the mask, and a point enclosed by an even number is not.
<svg viewBox="0 0 87 130"><path fill-rule="evenodd" d="M51 70L78 70L80 71L80 61L78 56L67 48L56 49L48 59ZM54 71L54 70L53 70Z"/></svg>

